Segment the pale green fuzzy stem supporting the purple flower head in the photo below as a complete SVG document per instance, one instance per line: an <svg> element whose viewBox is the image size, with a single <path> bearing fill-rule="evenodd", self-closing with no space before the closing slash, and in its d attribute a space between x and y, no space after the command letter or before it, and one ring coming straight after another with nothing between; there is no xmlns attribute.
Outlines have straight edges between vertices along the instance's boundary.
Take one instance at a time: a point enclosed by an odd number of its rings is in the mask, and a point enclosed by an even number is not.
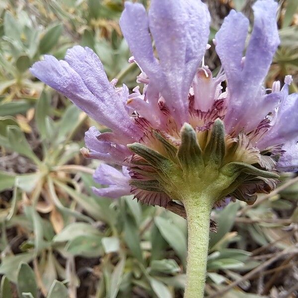
<svg viewBox="0 0 298 298"><path fill-rule="evenodd" d="M187 215L187 284L184 298L203 298L209 246L210 214L214 200L208 195L191 195L183 200Z"/></svg>

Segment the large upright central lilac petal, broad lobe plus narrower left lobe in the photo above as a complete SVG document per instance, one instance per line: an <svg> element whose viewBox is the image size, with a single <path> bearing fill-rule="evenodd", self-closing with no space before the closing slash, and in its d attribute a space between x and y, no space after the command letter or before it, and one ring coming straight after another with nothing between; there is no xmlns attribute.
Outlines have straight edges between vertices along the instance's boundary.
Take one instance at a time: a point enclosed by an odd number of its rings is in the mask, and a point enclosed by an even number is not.
<svg viewBox="0 0 298 298"><path fill-rule="evenodd" d="M149 76L151 88L165 98L178 125L188 121L187 95L206 50L209 23L209 11L201 0L152 0L149 23L142 5L126 2L120 20L136 61Z"/></svg>

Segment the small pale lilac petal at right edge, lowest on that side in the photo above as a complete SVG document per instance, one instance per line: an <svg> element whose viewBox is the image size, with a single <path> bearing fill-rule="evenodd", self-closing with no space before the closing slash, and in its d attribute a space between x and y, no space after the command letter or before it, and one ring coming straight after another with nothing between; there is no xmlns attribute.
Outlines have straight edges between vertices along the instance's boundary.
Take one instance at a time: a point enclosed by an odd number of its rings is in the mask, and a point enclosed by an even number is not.
<svg viewBox="0 0 298 298"><path fill-rule="evenodd" d="M277 163L279 171L296 172L298 171L298 143L297 139L286 143L283 147L285 153Z"/></svg>

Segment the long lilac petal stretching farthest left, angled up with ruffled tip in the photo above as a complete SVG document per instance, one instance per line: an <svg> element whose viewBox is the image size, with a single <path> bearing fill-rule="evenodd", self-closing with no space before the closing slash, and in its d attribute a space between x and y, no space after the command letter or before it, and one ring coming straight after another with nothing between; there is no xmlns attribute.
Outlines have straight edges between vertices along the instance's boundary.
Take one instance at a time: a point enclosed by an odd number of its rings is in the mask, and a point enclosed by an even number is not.
<svg viewBox="0 0 298 298"><path fill-rule="evenodd" d="M68 50L66 60L58 61L46 55L45 60L35 63L30 71L69 97L91 118L123 134L127 142L138 140L141 130L127 114L93 51L75 46Z"/></svg>

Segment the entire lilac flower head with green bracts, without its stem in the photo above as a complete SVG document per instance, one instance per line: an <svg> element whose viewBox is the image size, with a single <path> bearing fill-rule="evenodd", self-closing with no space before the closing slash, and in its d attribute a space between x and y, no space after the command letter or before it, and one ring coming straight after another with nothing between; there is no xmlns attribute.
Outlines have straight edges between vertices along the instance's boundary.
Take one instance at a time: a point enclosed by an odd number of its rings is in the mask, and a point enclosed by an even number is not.
<svg viewBox="0 0 298 298"><path fill-rule="evenodd" d="M142 92L116 88L93 51L80 46L65 60L45 56L33 65L32 74L111 129L85 134L86 157L123 166L121 173L102 164L94 179L110 186L95 193L132 193L166 206L183 192L208 190L217 202L232 196L251 204L276 186L278 170L298 170L298 94L288 94L289 76L282 89L262 85L279 45L277 3L258 0L253 10L245 57L248 19L234 10L224 19L216 77L201 65L210 25L201 0L151 0L148 14L125 3L120 25Z"/></svg>

